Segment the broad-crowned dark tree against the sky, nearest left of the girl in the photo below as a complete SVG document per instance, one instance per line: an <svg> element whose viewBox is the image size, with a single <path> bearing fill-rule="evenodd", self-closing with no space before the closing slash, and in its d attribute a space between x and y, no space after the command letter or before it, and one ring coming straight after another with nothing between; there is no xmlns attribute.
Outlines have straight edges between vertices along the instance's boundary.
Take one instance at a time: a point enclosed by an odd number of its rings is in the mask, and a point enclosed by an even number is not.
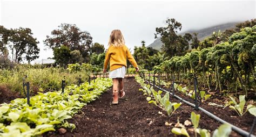
<svg viewBox="0 0 256 137"><path fill-rule="evenodd" d="M89 52L92 46L92 37L87 31L80 31L75 24L60 24L58 29L47 35L44 44L50 48L65 45L71 51L78 50L86 61L89 61Z"/></svg>

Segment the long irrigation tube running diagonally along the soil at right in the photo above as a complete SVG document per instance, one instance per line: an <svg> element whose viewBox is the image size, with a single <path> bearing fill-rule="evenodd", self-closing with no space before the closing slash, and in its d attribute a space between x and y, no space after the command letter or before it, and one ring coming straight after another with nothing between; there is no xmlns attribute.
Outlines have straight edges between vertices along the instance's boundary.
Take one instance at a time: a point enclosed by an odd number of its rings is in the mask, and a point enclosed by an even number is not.
<svg viewBox="0 0 256 137"><path fill-rule="evenodd" d="M146 82L147 82L147 83L150 83L149 81L146 81ZM153 85L152 83L150 83L150 84ZM155 85L155 86L156 86L156 88L158 88L158 89L160 89L160 90L162 90L162 91L169 92L169 91L167 91L167 90L165 90L165 89L160 88L160 86L157 86L157 85ZM171 92L169 92L169 93L170 93L170 95L172 95ZM184 100L183 98L181 98L181 97L179 97L179 96L177 96L177 95L174 95L174 97L177 98L177 99L179 99L179 100L181 100L181 102L186 103L187 105L190 105L190 106L192 106L192 107L196 107L195 104L190 103L190 102L187 102L186 100ZM237 127L237 126L234 126L234 125L230 124L229 122L227 122L227 121L225 121L225 120L223 120L223 119L221 119L221 118L215 116L214 114L212 114L211 112L209 112L209 111L203 109L202 107L198 107L198 110L204 112L205 114L207 114L207 116L209 116L209 117L211 117L211 118L213 118L213 119L215 119L215 120L221 122L222 124L228 124L228 125L230 125L231 128L233 129L233 131L235 131L235 132L241 134L242 136L249 136L249 135L250 135L250 133L248 133L248 132L244 131L243 129L241 129L241 128ZM256 136L251 134L249 137L256 137Z"/></svg>

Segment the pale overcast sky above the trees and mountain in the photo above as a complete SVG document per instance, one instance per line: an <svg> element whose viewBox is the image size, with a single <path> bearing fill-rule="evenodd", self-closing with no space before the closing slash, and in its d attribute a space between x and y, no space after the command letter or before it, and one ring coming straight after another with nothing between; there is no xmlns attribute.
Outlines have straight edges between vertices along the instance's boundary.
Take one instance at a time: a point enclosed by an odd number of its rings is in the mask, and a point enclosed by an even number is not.
<svg viewBox="0 0 256 137"><path fill-rule="evenodd" d="M38 39L39 59L52 57L44 51L46 35L61 23L88 31L93 42L104 44L113 29L120 29L129 48L154 41L156 27L175 18L183 31L255 18L255 1L11 1L0 0L0 24L6 28L29 27Z"/></svg>

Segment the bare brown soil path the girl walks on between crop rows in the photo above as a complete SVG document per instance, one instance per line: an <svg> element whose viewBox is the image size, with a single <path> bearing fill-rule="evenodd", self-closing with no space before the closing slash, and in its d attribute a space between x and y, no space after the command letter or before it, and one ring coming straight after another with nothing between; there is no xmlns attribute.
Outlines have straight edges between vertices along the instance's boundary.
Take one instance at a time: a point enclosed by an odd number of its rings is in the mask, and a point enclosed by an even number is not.
<svg viewBox="0 0 256 137"><path fill-rule="evenodd" d="M125 98L119 99L118 105L111 104L112 89L110 89L95 102L84 106L78 114L69 120L76 125L74 131L71 132L68 129L65 134L60 134L58 131L49 132L44 136L175 136L171 133L174 124L166 126L165 122L176 123L179 119L180 123L184 123L185 120L190 120L192 111L201 114L200 128L209 129L213 133L214 129L220 126L219 122L186 104L181 105L172 117L168 117L166 112L160 110L159 107L147 103L146 96L138 90L140 88L134 78L125 78L126 95ZM171 98L171 101L178 102L175 98ZM163 112L164 115L159 114L159 111ZM226 111L228 110L225 110L225 113ZM224 114L218 111L215 113ZM239 122L240 119L235 120ZM241 123L241 125L246 124ZM249 128L250 126L244 127ZM187 129L188 133L194 136L192 126L187 127ZM231 136L240 135L232 132Z"/></svg>

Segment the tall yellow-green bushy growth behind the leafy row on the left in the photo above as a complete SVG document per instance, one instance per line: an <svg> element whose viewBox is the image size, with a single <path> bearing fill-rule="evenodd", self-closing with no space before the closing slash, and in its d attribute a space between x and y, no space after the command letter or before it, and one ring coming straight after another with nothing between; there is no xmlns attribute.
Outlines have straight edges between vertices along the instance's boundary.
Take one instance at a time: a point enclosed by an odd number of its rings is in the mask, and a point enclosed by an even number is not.
<svg viewBox="0 0 256 137"><path fill-rule="evenodd" d="M78 84L79 75L82 76L82 82L88 80L88 74L84 71L68 73L62 68L43 68L36 69L31 66L19 65L13 69L0 69L0 86L6 85L9 90L23 93L23 78L27 76L25 81L30 82L31 93L38 91L59 90L61 89L61 81L66 80L66 85Z"/></svg>

